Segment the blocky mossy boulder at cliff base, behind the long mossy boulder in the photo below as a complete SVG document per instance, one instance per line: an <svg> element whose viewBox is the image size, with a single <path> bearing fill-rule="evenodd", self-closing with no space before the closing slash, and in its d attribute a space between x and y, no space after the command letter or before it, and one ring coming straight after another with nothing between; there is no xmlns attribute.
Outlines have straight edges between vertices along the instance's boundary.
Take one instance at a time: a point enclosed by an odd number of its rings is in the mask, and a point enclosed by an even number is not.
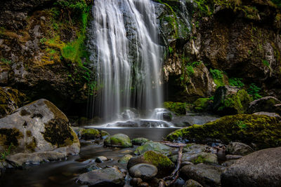
<svg viewBox="0 0 281 187"><path fill-rule="evenodd" d="M221 115L246 113L252 100L244 89L221 86L214 95L214 111Z"/></svg>

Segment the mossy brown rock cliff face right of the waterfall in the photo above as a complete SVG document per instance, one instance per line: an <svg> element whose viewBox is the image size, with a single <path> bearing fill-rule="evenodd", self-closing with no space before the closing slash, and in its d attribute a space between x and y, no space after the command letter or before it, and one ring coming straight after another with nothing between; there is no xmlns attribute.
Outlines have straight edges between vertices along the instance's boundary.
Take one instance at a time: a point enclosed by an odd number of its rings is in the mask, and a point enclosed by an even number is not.
<svg viewBox="0 0 281 187"><path fill-rule="evenodd" d="M175 34L182 27L179 20L183 18L178 15L181 1L162 4L177 10L169 15L177 16L174 38L172 32L164 37L169 43L164 77L168 90L179 88L168 99L190 102L196 97L209 97L214 83L217 87L228 85L228 78L241 78L246 88L254 83L262 88L263 95L280 98L280 9L272 1L186 1L190 30L184 37ZM166 25L162 24L164 31ZM200 76L206 77L200 81L198 62L204 64ZM221 71L221 83L213 82L216 76L210 76L211 69Z"/></svg>

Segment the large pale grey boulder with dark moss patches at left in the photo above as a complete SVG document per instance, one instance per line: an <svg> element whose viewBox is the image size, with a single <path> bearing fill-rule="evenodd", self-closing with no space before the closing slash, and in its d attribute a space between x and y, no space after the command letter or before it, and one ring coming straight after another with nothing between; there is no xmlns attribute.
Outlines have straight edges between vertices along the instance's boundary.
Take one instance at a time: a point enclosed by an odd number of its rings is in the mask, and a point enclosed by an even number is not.
<svg viewBox="0 0 281 187"><path fill-rule="evenodd" d="M0 152L8 148L12 154L77 154L80 144L65 114L48 100L39 99L0 119Z"/></svg>

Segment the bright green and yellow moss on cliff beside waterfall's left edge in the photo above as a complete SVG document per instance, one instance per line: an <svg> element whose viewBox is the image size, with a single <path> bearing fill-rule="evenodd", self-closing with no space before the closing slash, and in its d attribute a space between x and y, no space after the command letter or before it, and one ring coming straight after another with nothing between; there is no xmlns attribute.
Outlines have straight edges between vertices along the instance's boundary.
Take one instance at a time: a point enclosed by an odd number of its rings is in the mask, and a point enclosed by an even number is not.
<svg viewBox="0 0 281 187"><path fill-rule="evenodd" d="M84 43L86 26L90 17L91 2L87 0L57 1L49 11L51 15L50 31L40 43L46 46L46 64L63 60L70 66L68 77L74 82L84 82L89 94L96 91L96 81L91 69L88 68L89 53ZM65 39L68 31L76 37ZM64 37L64 38L63 38Z"/></svg>

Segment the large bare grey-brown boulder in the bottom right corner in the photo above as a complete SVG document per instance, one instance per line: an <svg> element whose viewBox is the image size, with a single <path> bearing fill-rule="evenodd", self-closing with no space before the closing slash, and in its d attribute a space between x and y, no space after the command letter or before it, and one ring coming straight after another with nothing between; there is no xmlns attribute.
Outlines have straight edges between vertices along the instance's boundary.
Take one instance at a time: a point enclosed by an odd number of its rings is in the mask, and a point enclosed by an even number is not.
<svg viewBox="0 0 281 187"><path fill-rule="evenodd" d="M222 186L281 186L281 147L256 151L221 175Z"/></svg>

